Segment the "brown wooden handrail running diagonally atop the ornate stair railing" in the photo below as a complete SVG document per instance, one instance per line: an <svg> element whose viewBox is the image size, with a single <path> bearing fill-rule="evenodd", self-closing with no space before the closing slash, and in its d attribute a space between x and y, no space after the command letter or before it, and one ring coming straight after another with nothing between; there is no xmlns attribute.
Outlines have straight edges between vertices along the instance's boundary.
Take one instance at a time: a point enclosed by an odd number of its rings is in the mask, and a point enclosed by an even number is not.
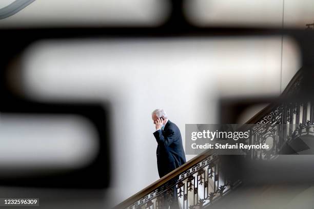
<svg viewBox="0 0 314 209"><path fill-rule="evenodd" d="M287 94L287 92L289 92L292 88L293 83L295 83L301 76L302 74L302 70L300 69L290 80L290 82L288 83L287 87L285 88L285 90L283 91L283 93L281 94L281 96L285 96ZM257 123L259 120L261 120L266 114L268 114L269 112L271 112L273 110L273 108L277 107L277 103L271 103L270 105L268 105L267 107L265 107L263 110L261 110L259 113L257 113L256 115L254 115L251 119L249 119L246 124L255 124ZM164 183L166 183L167 181L173 179L174 177L180 175L183 171L191 168L193 165L195 165L196 163L202 161L203 159L205 159L206 157L208 157L208 155L210 155L209 151L206 150L203 153L199 154L198 156L195 156L194 158L192 158L191 160L187 161L185 164L181 165L179 168L173 170L172 172L168 173L167 175L165 175L164 177L160 178L159 180L153 182L152 184L150 184L149 186L145 187L145 189L141 190L140 192L134 194L133 196L129 197L128 199L126 199L125 201L121 202L120 204L116 205L114 208L116 209L120 209L120 208L125 208L128 207L130 204L132 204L133 202L139 200L140 198L144 197L145 195L147 195L149 192L157 189L159 186L163 185Z"/></svg>

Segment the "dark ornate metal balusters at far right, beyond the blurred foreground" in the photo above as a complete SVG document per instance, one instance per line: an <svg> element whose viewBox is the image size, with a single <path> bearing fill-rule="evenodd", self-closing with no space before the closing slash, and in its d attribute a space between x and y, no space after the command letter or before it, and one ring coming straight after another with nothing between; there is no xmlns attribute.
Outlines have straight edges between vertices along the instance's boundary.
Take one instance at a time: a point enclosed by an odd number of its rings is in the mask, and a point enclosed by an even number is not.
<svg viewBox="0 0 314 209"><path fill-rule="evenodd" d="M244 150L252 159L273 159L280 154L297 154L284 148L302 135L313 135L313 102L287 102L274 108L250 130L246 144L268 144L270 148Z"/></svg>

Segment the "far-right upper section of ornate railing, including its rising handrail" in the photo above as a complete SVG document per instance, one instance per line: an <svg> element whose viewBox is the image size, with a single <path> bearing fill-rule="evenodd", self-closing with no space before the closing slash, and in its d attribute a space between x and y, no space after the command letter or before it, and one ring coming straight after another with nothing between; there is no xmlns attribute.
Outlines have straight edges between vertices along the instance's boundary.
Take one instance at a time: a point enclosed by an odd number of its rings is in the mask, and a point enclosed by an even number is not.
<svg viewBox="0 0 314 209"><path fill-rule="evenodd" d="M293 150L291 142L304 135L314 135L314 102L293 97L300 94L301 72L292 78L279 102L272 103L247 122L255 125L249 130L250 138L242 142L270 145L268 150L243 150L252 159L270 160L280 154L297 154L298 150Z"/></svg>

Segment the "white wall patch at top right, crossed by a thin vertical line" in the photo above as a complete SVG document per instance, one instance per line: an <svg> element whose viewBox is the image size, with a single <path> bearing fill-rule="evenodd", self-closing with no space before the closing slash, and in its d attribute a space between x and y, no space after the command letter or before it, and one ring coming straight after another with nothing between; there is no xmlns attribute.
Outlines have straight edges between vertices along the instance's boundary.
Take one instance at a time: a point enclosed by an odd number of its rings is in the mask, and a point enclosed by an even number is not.
<svg viewBox="0 0 314 209"><path fill-rule="evenodd" d="M312 0L188 0L185 11L199 26L305 29L314 20Z"/></svg>

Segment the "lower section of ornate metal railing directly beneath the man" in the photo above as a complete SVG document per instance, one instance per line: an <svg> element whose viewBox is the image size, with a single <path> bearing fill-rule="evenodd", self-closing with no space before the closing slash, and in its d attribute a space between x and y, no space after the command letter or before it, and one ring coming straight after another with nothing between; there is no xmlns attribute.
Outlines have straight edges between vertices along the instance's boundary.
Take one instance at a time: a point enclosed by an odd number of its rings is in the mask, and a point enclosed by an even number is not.
<svg viewBox="0 0 314 209"><path fill-rule="evenodd" d="M174 186L182 208L209 205L241 183L228 180L220 166L217 155L199 155L115 208L164 208Z"/></svg>

